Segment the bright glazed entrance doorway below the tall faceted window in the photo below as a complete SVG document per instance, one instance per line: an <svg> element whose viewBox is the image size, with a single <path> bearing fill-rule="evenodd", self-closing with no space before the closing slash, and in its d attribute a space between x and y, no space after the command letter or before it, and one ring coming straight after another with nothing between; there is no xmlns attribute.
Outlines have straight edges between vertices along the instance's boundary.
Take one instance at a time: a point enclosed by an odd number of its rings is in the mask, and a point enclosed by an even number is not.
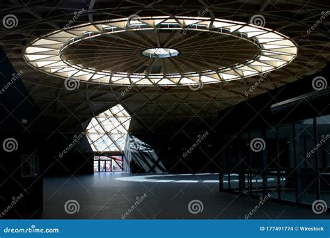
<svg viewBox="0 0 330 238"><path fill-rule="evenodd" d="M94 173L97 172L123 172L123 156L95 155Z"/></svg>

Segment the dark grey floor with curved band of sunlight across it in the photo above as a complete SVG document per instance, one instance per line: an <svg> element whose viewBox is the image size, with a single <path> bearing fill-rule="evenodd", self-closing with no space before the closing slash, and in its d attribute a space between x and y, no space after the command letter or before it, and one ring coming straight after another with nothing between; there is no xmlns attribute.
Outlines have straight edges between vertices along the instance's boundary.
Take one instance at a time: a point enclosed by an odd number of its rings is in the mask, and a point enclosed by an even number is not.
<svg viewBox="0 0 330 238"><path fill-rule="evenodd" d="M219 193L217 174L155 175L95 173L44 180L44 212L39 219L245 219L258 198ZM143 194L146 197L141 200ZM137 200L141 200L137 204ZM65 212L79 207L78 212ZM199 200L192 212L189 203ZM194 202L192 202L194 203ZM201 209L200 209L201 210ZM126 214L125 214L126 213ZM298 207L267 200L250 219L326 219L309 207Z"/></svg>

